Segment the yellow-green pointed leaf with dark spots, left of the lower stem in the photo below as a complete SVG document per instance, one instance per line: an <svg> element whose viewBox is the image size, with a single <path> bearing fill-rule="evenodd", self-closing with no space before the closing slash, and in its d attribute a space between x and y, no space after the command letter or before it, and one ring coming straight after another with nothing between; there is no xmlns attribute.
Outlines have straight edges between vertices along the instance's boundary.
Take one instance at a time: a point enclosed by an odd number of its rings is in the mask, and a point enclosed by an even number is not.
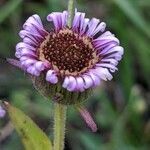
<svg viewBox="0 0 150 150"><path fill-rule="evenodd" d="M26 150L52 150L51 141L28 116L7 102L4 104Z"/></svg>

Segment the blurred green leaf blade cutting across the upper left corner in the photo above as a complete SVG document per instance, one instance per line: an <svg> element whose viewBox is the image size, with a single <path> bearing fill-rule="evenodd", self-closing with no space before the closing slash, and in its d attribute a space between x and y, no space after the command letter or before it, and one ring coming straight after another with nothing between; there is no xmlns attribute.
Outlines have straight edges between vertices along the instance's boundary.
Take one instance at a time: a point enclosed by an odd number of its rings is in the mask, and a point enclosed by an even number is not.
<svg viewBox="0 0 150 150"><path fill-rule="evenodd" d="M0 9L0 23L4 21L22 2L22 0L11 0Z"/></svg>

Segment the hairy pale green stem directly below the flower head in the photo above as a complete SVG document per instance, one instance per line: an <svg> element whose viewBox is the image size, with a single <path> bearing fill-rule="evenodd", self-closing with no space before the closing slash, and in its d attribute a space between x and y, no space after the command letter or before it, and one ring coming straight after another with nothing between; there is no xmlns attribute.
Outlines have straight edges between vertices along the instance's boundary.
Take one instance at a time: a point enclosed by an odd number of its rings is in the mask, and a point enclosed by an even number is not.
<svg viewBox="0 0 150 150"><path fill-rule="evenodd" d="M67 106L55 103L54 109L54 150L63 150Z"/></svg>

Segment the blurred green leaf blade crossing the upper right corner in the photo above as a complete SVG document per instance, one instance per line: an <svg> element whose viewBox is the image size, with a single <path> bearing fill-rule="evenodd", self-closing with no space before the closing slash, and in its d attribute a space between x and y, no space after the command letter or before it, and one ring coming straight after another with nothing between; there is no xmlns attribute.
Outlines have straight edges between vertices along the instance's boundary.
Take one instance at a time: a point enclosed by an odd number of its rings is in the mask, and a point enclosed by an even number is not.
<svg viewBox="0 0 150 150"><path fill-rule="evenodd" d="M150 37L150 30L144 17L141 15L139 9L132 4L131 0L114 0L124 14L148 37Z"/></svg>

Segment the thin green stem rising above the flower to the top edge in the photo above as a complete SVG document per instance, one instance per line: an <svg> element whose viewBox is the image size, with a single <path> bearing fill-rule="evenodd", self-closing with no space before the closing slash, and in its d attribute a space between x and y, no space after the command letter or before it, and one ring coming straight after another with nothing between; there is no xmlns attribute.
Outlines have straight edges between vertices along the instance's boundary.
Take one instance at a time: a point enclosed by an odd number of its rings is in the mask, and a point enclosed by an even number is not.
<svg viewBox="0 0 150 150"><path fill-rule="evenodd" d="M74 0L69 0L68 1L68 13L69 13L69 17L68 17L68 27L71 28L72 25L72 20L73 20L73 15L74 15Z"/></svg>

